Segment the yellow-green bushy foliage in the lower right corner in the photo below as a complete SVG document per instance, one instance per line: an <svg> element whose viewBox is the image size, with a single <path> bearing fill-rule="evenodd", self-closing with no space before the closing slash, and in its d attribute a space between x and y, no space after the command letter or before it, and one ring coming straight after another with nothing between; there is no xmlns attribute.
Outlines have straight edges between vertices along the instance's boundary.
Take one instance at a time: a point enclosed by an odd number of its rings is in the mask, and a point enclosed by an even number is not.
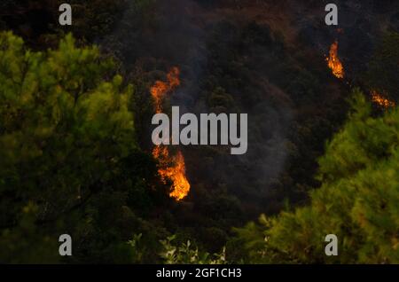
<svg viewBox="0 0 399 282"><path fill-rule="evenodd" d="M349 120L320 159L311 203L238 230L251 262L399 262L399 110L372 117L354 91ZM325 255L336 234L339 255Z"/></svg>

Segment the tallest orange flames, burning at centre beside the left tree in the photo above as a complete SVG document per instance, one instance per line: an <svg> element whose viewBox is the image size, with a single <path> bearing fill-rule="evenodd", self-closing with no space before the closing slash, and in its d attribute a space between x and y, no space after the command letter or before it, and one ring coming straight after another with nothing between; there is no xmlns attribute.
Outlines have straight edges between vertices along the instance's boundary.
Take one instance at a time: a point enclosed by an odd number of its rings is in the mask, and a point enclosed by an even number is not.
<svg viewBox="0 0 399 282"><path fill-rule="evenodd" d="M151 88L151 95L155 101L155 111L157 114L162 112L162 101L165 95L180 85L180 71L177 67L172 67L168 73L168 81L157 81ZM158 173L161 180L166 183L168 179L172 181L172 191L169 196L175 200L183 200L190 191L190 183L185 176L185 163L183 153L178 151L176 155L171 155L168 147L157 145L153 148L153 157L159 161Z"/></svg>

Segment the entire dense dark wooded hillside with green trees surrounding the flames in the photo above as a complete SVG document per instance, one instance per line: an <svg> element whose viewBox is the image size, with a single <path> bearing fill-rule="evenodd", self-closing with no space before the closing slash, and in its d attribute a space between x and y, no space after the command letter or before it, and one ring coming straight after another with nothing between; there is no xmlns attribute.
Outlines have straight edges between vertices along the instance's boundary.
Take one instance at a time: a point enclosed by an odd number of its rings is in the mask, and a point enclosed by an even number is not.
<svg viewBox="0 0 399 282"><path fill-rule="evenodd" d="M71 0L71 27L61 1L2 2L0 262L398 263L399 9L365 2L384 20L343 33L315 24L318 1ZM181 201L151 152L171 67L167 112L249 116L246 155L180 148Z"/></svg>

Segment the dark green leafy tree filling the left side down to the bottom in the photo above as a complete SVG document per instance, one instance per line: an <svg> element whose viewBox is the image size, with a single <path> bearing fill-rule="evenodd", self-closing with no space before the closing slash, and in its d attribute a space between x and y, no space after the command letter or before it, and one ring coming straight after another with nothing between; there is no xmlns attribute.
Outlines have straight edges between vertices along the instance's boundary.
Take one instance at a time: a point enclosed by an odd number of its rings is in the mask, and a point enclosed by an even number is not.
<svg viewBox="0 0 399 282"><path fill-rule="evenodd" d="M132 93L112 61L75 47L72 35L34 52L0 34L1 262L59 262L63 233L74 262L131 262L127 239L157 236L140 218L156 167L137 148Z"/></svg>

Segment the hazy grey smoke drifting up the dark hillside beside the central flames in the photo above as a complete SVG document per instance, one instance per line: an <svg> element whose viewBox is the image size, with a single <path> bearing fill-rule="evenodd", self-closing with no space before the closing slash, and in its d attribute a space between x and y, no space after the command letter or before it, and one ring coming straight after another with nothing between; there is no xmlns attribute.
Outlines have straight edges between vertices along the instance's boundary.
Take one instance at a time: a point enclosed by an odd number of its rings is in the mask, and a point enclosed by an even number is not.
<svg viewBox="0 0 399 282"><path fill-rule="evenodd" d="M147 9L145 15L139 8ZM224 146L181 149L192 190L198 185L209 190L227 189L241 200L258 202L267 197L270 184L284 168L292 111L286 94L268 80L273 66L267 61L276 56L274 47L262 42L243 43L253 40L245 38L250 22L239 20L242 22L236 24L236 20L212 4L171 0L137 7L130 1L118 27L102 45L128 69L140 66L150 76L179 67L182 85L170 103L180 106L181 114L248 114L245 155L231 156L230 148ZM270 30L265 30L260 32L270 37ZM232 61L223 58L230 52ZM224 92L218 94L217 86Z"/></svg>

